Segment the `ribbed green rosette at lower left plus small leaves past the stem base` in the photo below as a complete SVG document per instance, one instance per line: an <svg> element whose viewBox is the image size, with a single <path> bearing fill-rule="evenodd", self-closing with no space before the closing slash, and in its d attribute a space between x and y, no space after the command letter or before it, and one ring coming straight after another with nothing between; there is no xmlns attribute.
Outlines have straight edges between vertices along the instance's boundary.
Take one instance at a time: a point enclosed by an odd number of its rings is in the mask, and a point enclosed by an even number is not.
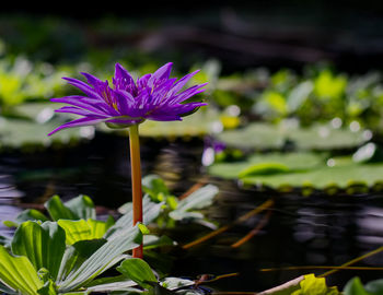
<svg viewBox="0 0 383 295"><path fill-rule="evenodd" d="M104 232L95 223L93 229ZM137 294L154 288L167 293L174 290L177 294L201 293L194 281L160 279L146 261L126 253L142 240L138 226L125 225L118 233L106 231L104 235L90 236L86 224L90 220L21 223L10 245L0 246L0 291L12 295L118 291ZM119 262L115 268L119 275L113 272L113 276L104 275Z"/></svg>

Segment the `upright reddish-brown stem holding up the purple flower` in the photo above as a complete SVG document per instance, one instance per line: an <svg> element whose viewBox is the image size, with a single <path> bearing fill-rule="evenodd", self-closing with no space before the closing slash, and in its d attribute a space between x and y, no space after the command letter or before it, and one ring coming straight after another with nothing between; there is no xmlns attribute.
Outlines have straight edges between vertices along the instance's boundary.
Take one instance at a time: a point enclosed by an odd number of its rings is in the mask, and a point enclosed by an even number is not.
<svg viewBox="0 0 383 295"><path fill-rule="evenodd" d="M140 161L140 140L138 134L138 125L129 128L130 142L130 167L131 167L131 191L134 208L134 225L142 222L142 185L141 185L141 161ZM142 244L132 251L135 258L142 258Z"/></svg>

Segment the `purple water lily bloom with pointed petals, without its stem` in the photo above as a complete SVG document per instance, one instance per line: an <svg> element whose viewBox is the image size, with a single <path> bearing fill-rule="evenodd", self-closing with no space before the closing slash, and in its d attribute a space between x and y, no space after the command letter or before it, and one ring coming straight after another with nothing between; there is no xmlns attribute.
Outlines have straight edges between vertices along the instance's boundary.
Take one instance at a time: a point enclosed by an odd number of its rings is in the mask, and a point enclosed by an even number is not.
<svg viewBox="0 0 383 295"><path fill-rule="evenodd" d="M48 135L72 127L91 126L105 122L112 128L124 128L143 122L182 120L182 117L206 105L200 102L184 103L192 96L204 92L207 84L194 85L184 91L183 87L198 71L189 73L177 81L170 79L172 62L146 74L136 82L129 72L119 63L115 67L112 86L108 81L82 73L86 82L63 78L69 84L78 87L84 95L72 95L51 98L51 102L65 103L57 113L70 113L83 116L56 128Z"/></svg>

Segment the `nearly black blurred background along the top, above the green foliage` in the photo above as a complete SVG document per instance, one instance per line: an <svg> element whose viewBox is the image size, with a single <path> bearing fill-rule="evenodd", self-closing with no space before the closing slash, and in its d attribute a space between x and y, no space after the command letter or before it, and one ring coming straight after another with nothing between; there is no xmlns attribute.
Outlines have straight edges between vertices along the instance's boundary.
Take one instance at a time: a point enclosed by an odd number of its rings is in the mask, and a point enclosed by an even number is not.
<svg viewBox="0 0 383 295"><path fill-rule="evenodd" d="M9 3L8 3L9 5ZM153 56L217 58L223 72L301 69L332 62L348 72L383 67L382 1L125 1L3 7L0 17L57 17L89 26L103 19L136 24L101 34L94 46L134 46Z"/></svg>

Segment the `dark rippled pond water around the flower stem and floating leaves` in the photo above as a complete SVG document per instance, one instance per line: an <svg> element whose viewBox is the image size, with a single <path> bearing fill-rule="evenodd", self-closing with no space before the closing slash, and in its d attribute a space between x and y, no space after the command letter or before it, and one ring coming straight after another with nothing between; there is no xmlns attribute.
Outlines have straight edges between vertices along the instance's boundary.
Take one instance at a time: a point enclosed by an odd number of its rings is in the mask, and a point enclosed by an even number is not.
<svg viewBox="0 0 383 295"><path fill-rule="evenodd" d="M211 285L219 291L263 291L301 274L326 270L260 272L263 268L291 266L340 266L383 244L383 193L327 196L300 191L279 193L242 188L233 181L207 177L201 167L204 141L142 139L142 174L163 177L176 196L196 182L214 184L220 192L214 205L206 210L208 219L221 225L267 200L275 205L267 213L247 219L224 233L192 247L178 247L171 274L196 278L237 273ZM70 149L50 149L38 153L10 152L0 155L0 216L13 220L24 208L42 204L53 194L70 199L80 193L92 197L100 214L113 212L130 201L128 140L96 134L94 140ZM237 248L231 245L266 221L258 234ZM211 232L181 224L167 234L179 245ZM0 235L11 234L0 225ZM383 253L357 266L379 267ZM378 271L339 271L327 278L329 285L343 286L353 275L363 282L381 278Z"/></svg>

